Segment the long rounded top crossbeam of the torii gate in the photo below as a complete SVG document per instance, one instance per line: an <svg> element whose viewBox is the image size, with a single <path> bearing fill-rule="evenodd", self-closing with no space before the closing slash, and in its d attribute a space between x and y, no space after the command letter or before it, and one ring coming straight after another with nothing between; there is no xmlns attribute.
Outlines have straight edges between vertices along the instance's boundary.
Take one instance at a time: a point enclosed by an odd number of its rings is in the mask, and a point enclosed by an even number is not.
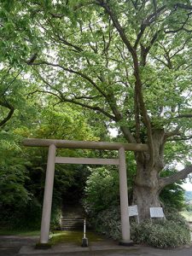
<svg viewBox="0 0 192 256"><path fill-rule="evenodd" d="M28 147L49 147L54 144L56 148L84 148L84 149L106 149L119 150L124 148L131 151L147 151L147 144L138 143L108 143L108 142L84 142L84 141L68 141L54 139L38 139L28 138L23 142L24 146Z"/></svg>

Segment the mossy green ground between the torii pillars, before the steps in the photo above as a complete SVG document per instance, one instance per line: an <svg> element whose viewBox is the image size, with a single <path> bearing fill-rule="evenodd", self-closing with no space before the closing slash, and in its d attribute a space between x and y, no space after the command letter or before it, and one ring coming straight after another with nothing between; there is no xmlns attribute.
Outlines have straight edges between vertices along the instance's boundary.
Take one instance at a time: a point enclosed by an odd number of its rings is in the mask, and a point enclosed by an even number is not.
<svg viewBox="0 0 192 256"><path fill-rule="evenodd" d="M51 235L49 240L50 244L55 245L57 243L66 243L66 242L73 242L78 245L81 245L83 232L82 231L61 231L57 230L54 231ZM103 241L103 237L96 235L96 233L88 231L86 232L86 237L90 241Z"/></svg>

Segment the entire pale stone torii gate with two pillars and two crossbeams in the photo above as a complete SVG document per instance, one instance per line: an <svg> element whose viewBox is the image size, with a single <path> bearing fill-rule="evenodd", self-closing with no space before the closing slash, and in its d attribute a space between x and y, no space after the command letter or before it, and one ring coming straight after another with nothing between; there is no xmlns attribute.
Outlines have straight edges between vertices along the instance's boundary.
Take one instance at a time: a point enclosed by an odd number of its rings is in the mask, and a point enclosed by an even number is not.
<svg viewBox="0 0 192 256"><path fill-rule="evenodd" d="M26 139L24 146L29 147L49 147L47 171L44 186L44 205L41 221L40 243L49 242L49 225L52 206L52 195L54 185L55 164L84 164L84 165L115 165L119 166L119 192L120 192L120 215L121 215L121 245L130 245L130 222L128 216L128 190L125 164L125 150L147 151L146 144L137 143L103 143L67 141L53 139ZM96 158L75 158L56 157L56 148L84 148L84 149L107 149L119 150L118 159L96 159Z"/></svg>

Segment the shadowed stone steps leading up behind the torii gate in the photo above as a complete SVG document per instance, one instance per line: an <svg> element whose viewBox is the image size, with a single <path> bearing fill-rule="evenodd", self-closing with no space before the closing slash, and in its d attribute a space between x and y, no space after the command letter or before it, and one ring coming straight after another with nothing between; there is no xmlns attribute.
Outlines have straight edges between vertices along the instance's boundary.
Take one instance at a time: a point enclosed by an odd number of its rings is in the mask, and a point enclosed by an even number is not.
<svg viewBox="0 0 192 256"><path fill-rule="evenodd" d="M61 230L84 230L84 211L79 204L63 206Z"/></svg>

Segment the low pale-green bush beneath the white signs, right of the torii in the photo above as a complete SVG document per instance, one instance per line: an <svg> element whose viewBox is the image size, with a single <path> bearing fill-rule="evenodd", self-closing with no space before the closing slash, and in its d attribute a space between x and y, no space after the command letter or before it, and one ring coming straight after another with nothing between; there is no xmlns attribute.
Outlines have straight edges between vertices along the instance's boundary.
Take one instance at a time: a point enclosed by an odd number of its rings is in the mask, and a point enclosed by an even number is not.
<svg viewBox="0 0 192 256"><path fill-rule="evenodd" d="M131 225L131 239L153 247L178 247L189 243L189 227L172 220L146 221Z"/></svg>

